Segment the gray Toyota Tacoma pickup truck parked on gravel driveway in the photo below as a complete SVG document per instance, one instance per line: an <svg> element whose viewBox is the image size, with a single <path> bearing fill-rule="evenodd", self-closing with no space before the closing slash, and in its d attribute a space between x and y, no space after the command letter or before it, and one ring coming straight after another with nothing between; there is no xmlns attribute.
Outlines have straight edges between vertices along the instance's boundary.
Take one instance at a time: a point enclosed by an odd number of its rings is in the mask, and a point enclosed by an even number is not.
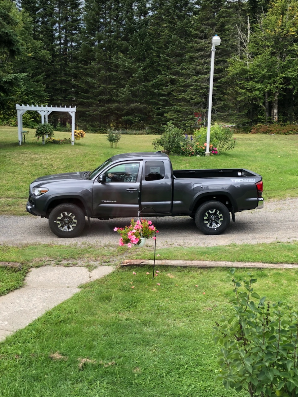
<svg viewBox="0 0 298 397"><path fill-rule="evenodd" d="M112 156L94 171L47 175L30 184L27 211L48 218L58 237L77 237L85 219L191 216L222 233L230 213L263 207L261 175L241 168L173 171L161 152Z"/></svg>

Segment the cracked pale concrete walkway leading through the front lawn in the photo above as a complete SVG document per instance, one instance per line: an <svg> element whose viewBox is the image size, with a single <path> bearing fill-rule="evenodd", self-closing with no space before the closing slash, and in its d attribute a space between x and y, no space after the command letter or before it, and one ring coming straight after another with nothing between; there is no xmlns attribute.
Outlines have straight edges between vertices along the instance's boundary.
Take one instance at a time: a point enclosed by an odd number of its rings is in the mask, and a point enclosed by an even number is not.
<svg viewBox="0 0 298 397"><path fill-rule="evenodd" d="M113 270L112 266L99 266L90 272L85 267L32 268L24 287L0 297L0 341L79 292L78 285Z"/></svg>

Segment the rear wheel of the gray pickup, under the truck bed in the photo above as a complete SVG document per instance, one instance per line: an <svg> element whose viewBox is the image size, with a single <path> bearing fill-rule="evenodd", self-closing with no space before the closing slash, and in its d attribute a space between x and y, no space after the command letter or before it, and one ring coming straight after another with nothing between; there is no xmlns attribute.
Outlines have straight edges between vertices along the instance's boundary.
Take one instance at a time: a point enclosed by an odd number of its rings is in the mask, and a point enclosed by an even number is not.
<svg viewBox="0 0 298 397"><path fill-rule="evenodd" d="M195 224L204 234L221 234L230 224L230 212L220 201L206 201L195 212Z"/></svg>

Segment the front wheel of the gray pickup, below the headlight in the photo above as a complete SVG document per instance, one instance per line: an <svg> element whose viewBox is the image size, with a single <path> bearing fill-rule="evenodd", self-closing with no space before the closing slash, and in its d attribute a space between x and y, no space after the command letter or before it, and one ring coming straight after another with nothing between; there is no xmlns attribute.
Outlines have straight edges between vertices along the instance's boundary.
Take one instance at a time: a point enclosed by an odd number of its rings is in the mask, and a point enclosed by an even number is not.
<svg viewBox="0 0 298 397"><path fill-rule="evenodd" d="M48 224L58 237L77 237L85 227L85 214L75 204L59 204L50 212Z"/></svg>

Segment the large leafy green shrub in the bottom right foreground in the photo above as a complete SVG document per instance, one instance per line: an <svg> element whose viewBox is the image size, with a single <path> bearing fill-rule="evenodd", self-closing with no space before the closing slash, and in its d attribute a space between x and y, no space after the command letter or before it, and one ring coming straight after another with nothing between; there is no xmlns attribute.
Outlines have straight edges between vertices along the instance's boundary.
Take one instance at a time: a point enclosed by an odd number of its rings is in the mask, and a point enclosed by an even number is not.
<svg viewBox="0 0 298 397"><path fill-rule="evenodd" d="M226 389L246 390L250 397L298 395L298 314L282 302L265 305L266 297L253 291L257 279L243 281L229 274L234 285L230 298L234 313L213 327L221 346L221 380ZM257 299L255 302L252 298Z"/></svg>

